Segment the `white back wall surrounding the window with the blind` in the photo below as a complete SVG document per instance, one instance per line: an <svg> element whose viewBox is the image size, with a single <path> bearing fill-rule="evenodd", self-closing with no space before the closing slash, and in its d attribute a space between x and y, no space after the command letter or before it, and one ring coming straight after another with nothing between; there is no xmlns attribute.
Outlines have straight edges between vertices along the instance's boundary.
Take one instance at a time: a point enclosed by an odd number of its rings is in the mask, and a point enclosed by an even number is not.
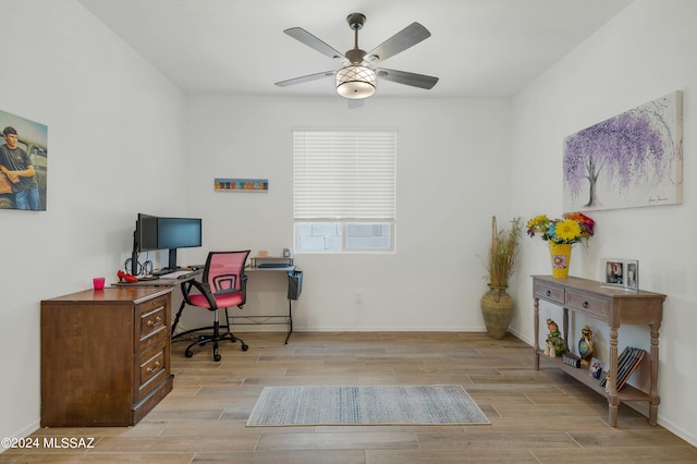
<svg viewBox="0 0 697 464"><path fill-rule="evenodd" d="M481 330L477 255L486 254L491 216L508 209L509 113L502 100L375 97L348 109L335 96L189 97L188 127L197 134L189 199L204 216L205 248L279 254L292 246L293 127L395 127L396 253L296 255L305 280L295 328ZM213 192L217 176L265 178L269 192ZM272 300L270 279L252 276L245 314L283 312L284 294Z"/></svg>

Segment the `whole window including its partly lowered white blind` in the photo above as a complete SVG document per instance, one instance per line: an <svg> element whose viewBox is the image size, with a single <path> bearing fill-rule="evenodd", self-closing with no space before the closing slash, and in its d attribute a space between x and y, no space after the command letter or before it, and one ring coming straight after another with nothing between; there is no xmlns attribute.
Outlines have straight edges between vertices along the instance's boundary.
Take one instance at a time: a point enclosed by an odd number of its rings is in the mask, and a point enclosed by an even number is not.
<svg viewBox="0 0 697 464"><path fill-rule="evenodd" d="M294 131L295 249L394 249L395 131Z"/></svg>

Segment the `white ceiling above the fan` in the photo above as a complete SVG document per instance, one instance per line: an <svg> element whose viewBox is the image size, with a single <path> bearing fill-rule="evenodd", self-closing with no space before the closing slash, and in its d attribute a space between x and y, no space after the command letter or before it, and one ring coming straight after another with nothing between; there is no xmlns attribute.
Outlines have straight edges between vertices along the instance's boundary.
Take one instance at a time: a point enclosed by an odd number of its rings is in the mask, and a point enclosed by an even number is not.
<svg viewBox="0 0 697 464"><path fill-rule="evenodd" d="M440 77L430 90L380 81L379 97L510 97L633 0L78 0L187 94L335 95L334 81L274 82L341 63L283 34L303 27L345 52L346 16L369 51L419 22L431 37L380 63Z"/></svg>

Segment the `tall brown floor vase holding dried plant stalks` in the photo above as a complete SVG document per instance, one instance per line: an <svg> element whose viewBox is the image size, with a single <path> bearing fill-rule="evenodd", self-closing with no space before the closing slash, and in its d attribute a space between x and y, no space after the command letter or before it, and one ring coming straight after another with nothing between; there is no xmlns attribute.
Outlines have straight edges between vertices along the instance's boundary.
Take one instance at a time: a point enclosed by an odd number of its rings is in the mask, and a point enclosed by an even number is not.
<svg viewBox="0 0 697 464"><path fill-rule="evenodd" d="M491 218L491 243L485 262L489 272L489 291L481 297L481 316L487 333L493 339L505 337L513 318L515 304L505 289L518 259L522 233L521 218L514 218L509 230L499 230L497 217Z"/></svg>

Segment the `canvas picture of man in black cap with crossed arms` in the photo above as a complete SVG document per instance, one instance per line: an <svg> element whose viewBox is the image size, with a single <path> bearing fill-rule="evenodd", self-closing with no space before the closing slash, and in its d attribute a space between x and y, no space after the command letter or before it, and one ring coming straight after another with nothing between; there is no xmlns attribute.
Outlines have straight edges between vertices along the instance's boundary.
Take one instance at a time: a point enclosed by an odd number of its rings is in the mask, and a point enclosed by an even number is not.
<svg viewBox="0 0 697 464"><path fill-rule="evenodd" d="M0 209L46 211L48 126L0 110Z"/></svg>

